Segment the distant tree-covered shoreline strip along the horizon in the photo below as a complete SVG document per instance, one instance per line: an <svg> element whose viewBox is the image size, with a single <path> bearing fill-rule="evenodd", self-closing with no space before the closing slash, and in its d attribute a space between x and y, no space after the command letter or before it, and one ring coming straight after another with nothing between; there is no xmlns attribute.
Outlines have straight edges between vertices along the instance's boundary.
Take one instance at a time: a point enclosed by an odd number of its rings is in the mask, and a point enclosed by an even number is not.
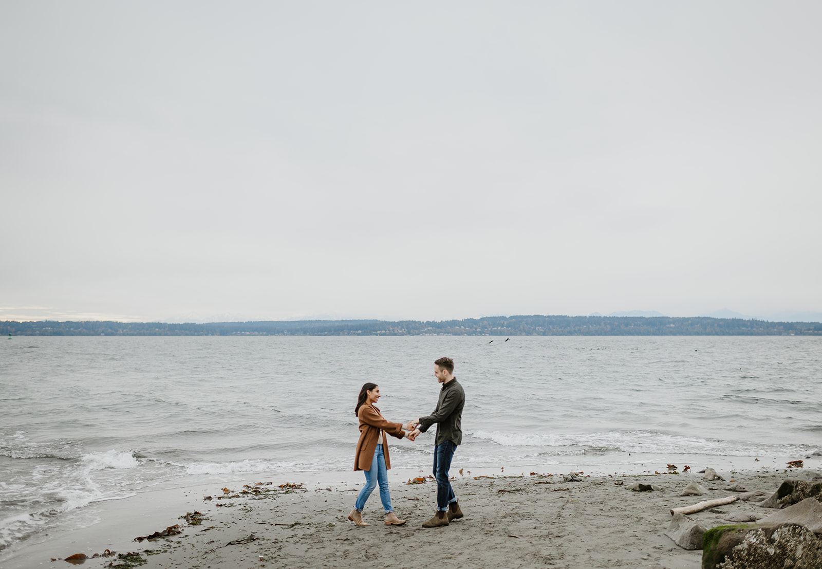
<svg viewBox="0 0 822 569"><path fill-rule="evenodd" d="M512 316L443 322L0 322L2 335L822 335L819 322L741 318Z"/></svg>

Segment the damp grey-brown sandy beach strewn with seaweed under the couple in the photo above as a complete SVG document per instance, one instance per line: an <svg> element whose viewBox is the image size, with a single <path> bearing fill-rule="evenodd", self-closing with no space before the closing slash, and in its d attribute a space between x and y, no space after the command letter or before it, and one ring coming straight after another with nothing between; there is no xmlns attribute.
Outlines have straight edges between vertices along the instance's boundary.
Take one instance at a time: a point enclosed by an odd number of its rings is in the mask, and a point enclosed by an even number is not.
<svg viewBox="0 0 822 569"><path fill-rule="evenodd" d="M449 567L695 569L701 551L679 548L664 535L670 510L726 497L733 494L725 489L730 486L772 493L797 474L778 460L767 462L744 472L718 469L724 482L703 480L695 470L704 466L679 474L583 474L580 482L557 473L452 471L464 519L430 530L421 524L432 516L436 483L409 484L412 477L424 476L418 471L390 472L395 511L407 520L401 526L384 524L376 492L363 512L371 525L357 527L347 519L362 486L361 473L337 473L333 482L333 473L310 482L292 474L225 487L172 488L102 502L85 512L87 527L32 539L5 567L68 567L51 559L76 553L91 557L109 549L117 554L90 558L84 566L421 567L446 561ZM820 459L806 460L806 467L818 470ZM681 497L691 481L709 492ZM637 482L658 489L630 490ZM195 511L201 520L183 517ZM743 512L767 516L773 510L739 501L690 517L713 527ZM179 534L134 540L173 525L179 525ZM125 553L137 556L118 557Z"/></svg>

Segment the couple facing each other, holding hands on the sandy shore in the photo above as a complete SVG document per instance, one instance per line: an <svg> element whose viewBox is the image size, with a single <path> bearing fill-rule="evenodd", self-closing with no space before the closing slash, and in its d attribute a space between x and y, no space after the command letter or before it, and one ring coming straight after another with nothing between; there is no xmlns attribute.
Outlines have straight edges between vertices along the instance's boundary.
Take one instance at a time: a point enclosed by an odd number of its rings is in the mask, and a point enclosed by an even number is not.
<svg viewBox="0 0 822 569"><path fill-rule="evenodd" d="M376 383L366 383L360 390L357 407L354 413L359 419L360 437L354 455L354 470L363 470L366 484L357 497L349 520L357 525L368 525L363 520L363 507L377 484L380 485L382 507L386 510L386 525L402 525L391 507L391 494L388 489L388 469L391 467L388 456L386 433L392 437L407 438L413 441L419 433L425 433L436 423L434 442L434 478L436 479L436 514L423 524L424 528L448 525L450 520L463 516L459 509L454 489L448 481L448 470L451 458L457 446L462 443L460 422L465 406L465 392L454 376L454 360L440 358L434 362L434 376L442 384L440 398L434 412L427 417L420 417L409 423L390 423L386 421L374 404L380 398L380 387Z"/></svg>

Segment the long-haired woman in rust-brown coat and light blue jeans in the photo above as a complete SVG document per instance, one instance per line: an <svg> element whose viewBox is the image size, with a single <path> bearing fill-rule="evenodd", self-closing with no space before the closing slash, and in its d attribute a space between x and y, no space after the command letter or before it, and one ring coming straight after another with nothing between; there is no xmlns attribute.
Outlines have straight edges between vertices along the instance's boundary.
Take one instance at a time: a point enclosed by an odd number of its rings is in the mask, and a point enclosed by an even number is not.
<svg viewBox="0 0 822 569"><path fill-rule="evenodd" d="M357 503L349 514L349 520L357 525L368 525L363 520L363 507L379 483L382 507L386 510L386 525L402 525L405 520L400 520L395 515L394 508L391 507L391 494L388 489L388 469L391 468L391 460L388 456L386 433L392 437L405 437L413 441L410 436L413 428L409 424L389 423L383 419L380 409L374 406L378 399L380 399L379 386L376 383L366 383L360 390L357 406L354 408L354 414L360 421L360 437L354 455L354 470L365 472L365 486L360 490Z"/></svg>

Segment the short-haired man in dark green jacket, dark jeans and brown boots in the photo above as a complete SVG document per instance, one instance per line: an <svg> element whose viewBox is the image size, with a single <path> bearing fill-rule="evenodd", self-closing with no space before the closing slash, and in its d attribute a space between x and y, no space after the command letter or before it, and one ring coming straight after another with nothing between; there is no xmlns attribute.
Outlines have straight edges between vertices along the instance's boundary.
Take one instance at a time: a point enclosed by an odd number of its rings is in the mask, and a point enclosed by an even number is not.
<svg viewBox="0 0 822 569"><path fill-rule="evenodd" d="M457 378L454 377L454 360L440 358L434 362L434 376L442 384L440 398L434 412L427 417L420 417L413 423L418 427L411 433L411 440L419 433L425 433L436 423L434 440L434 478L436 479L436 514L423 524L424 528L436 528L448 525L450 520L459 520L463 516L459 503L454 495L454 488L448 481L448 470L451 458L457 446L462 443L462 409L465 406L465 392Z"/></svg>

